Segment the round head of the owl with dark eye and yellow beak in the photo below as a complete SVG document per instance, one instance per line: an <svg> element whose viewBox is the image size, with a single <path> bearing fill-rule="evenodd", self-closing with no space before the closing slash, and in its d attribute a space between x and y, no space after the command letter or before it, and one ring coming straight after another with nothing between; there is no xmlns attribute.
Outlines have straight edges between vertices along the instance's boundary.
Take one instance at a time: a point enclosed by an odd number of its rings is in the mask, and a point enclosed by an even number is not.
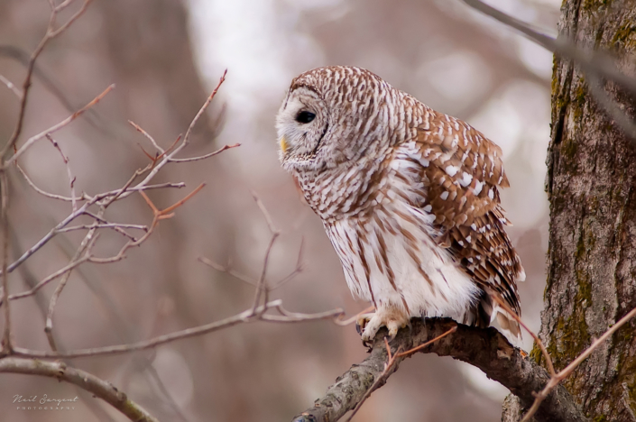
<svg viewBox="0 0 636 422"><path fill-rule="evenodd" d="M398 96L365 69L318 68L294 78L276 117L282 166L322 171L373 160L392 139Z"/></svg>

